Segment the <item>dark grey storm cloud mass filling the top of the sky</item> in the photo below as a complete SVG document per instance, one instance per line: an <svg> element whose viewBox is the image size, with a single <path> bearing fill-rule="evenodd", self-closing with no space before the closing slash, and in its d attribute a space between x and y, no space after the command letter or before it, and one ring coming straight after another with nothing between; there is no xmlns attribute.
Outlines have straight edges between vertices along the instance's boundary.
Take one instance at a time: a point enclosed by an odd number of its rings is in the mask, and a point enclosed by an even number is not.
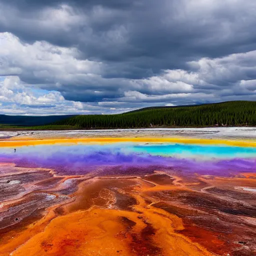
<svg viewBox="0 0 256 256"><path fill-rule="evenodd" d="M107 77L144 77L165 68L185 68L186 61L199 57L255 49L252 31L256 21L249 9L255 4L251 1L191 2L11 0L6 5L2 1L10 18L0 22L0 30L25 41L75 45L81 50L80 57L105 61L116 70ZM61 8L60 4L72 7L66 9L69 20L58 19L59 13L54 14L55 19L43 20L47 18L40 14L43 10Z"/></svg>

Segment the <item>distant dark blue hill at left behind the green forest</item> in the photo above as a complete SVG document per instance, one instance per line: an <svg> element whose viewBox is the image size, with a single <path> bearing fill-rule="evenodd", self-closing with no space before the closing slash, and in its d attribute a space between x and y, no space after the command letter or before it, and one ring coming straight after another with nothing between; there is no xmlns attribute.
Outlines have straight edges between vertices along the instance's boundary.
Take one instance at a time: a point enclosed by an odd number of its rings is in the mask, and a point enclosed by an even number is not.
<svg viewBox="0 0 256 256"><path fill-rule="evenodd" d="M45 125L61 119L70 118L73 115L48 115L48 116L32 116L32 115L6 115L0 114L0 124L15 126L34 126Z"/></svg>

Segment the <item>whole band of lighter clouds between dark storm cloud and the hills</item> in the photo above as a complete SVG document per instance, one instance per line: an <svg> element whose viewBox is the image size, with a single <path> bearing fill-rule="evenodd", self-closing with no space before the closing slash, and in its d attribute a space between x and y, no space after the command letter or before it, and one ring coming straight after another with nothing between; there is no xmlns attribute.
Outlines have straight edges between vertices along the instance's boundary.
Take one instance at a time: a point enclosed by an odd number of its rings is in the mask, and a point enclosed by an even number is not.
<svg viewBox="0 0 256 256"><path fill-rule="evenodd" d="M256 100L256 50L203 57L187 62L189 70L165 69L141 79L108 78L106 63L78 56L75 47L24 43L0 33L0 75L10 75L0 80L1 112L107 113L148 105ZM66 100L68 93L87 97L85 102Z"/></svg>

